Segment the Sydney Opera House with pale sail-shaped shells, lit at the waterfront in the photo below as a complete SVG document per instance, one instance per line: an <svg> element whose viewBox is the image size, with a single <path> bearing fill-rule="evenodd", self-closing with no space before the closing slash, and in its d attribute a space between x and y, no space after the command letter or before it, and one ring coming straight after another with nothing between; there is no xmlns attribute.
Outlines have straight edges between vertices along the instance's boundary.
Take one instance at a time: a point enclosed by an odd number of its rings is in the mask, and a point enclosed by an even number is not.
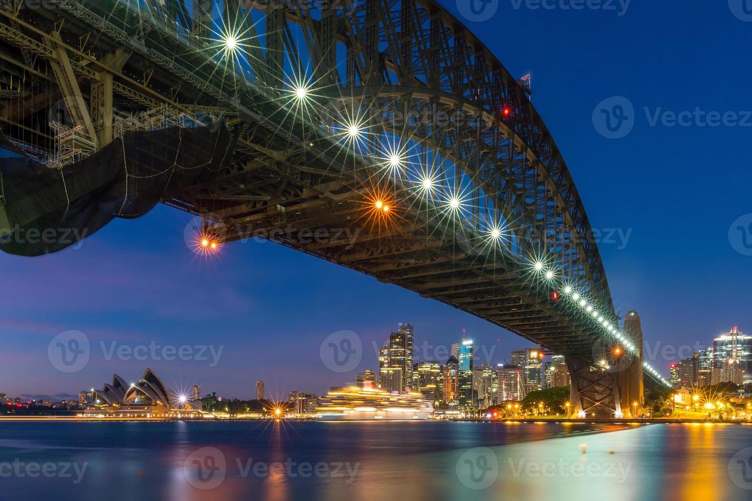
<svg viewBox="0 0 752 501"><path fill-rule="evenodd" d="M112 384L95 390L95 403L86 408L86 415L119 418L199 418L201 400L191 402L168 391L151 369L138 382L127 384L114 374Z"/></svg>

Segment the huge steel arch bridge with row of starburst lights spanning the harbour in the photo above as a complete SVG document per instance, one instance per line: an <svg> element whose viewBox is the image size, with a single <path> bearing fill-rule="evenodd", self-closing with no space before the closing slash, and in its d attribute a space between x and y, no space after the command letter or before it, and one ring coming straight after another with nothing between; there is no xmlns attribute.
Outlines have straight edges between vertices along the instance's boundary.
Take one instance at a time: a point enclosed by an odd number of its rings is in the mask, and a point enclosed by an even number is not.
<svg viewBox="0 0 752 501"><path fill-rule="evenodd" d="M0 35L5 252L162 203L565 355L580 416L666 384L529 78L438 2L2 0Z"/></svg>

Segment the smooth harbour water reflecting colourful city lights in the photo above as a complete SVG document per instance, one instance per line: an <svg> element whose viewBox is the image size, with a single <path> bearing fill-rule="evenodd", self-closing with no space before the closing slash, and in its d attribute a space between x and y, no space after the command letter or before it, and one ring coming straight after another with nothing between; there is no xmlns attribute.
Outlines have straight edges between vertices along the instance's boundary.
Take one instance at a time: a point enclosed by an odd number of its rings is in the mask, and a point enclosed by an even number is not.
<svg viewBox="0 0 752 501"><path fill-rule="evenodd" d="M750 445L738 425L6 422L0 497L749 499L729 460ZM5 475L16 459L86 469L80 484Z"/></svg>

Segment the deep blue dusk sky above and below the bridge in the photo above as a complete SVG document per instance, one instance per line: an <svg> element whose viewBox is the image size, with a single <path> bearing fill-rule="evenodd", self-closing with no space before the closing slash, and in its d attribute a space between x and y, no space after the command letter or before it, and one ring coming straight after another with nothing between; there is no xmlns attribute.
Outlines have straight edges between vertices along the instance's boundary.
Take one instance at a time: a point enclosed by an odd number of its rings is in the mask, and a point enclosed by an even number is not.
<svg viewBox="0 0 752 501"><path fill-rule="evenodd" d="M735 250L744 249L735 228L729 241L732 223L752 213L752 65L739 49L752 40L752 22L723 1L634 0L623 16L620 8L545 11L499 2L491 20L466 24L511 74L532 73L532 102L593 228L614 233L599 244L614 305L621 315L641 315L653 366L668 376L676 361L661 355L662 346L705 346L732 325L752 333L752 257ZM459 17L454 0L440 3ZM627 98L636 113L620 139L593 125L596 107L613 96ZM696 108L734 113L746 126L702 126L694 118L688 126L660 118L651 125L656 114ZM256 379L272 397L322 394L378 370L372 346L383 346L405 320L414 324L419 352L423 343L449 346L462 329L493 350L493 364L531 346L450 306L273 243L233 243L205 261L183 241L190 219L160 205L141 219L112 222L80 249L0 255L0 392L75 394L101 388L112 373L135 380L151 367L168 387L201 383L204 393L225 397L252 397ZM365 354L356 370L338 374L322 363L319 347L343 329L359 334ZM92 346L77 373L61 373L47 358L50 340L65 330L82 331ZM223 351L216 367L209 353L208 361L106 359L112 343L152 341Z"/></svg>

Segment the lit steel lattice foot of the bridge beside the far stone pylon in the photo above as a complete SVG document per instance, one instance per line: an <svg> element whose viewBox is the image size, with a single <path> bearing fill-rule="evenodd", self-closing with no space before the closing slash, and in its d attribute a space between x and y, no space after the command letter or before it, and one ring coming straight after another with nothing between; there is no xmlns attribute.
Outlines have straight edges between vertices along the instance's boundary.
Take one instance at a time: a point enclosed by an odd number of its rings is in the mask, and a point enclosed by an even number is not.
<svg viewBox="0 0 752 501"><path fill-rule="evenodd" d="M580 358L566 357L572 383L569 397L578 418L604 415L623 418L619 397L619 377L600 367L593 367Z"/></svg>

